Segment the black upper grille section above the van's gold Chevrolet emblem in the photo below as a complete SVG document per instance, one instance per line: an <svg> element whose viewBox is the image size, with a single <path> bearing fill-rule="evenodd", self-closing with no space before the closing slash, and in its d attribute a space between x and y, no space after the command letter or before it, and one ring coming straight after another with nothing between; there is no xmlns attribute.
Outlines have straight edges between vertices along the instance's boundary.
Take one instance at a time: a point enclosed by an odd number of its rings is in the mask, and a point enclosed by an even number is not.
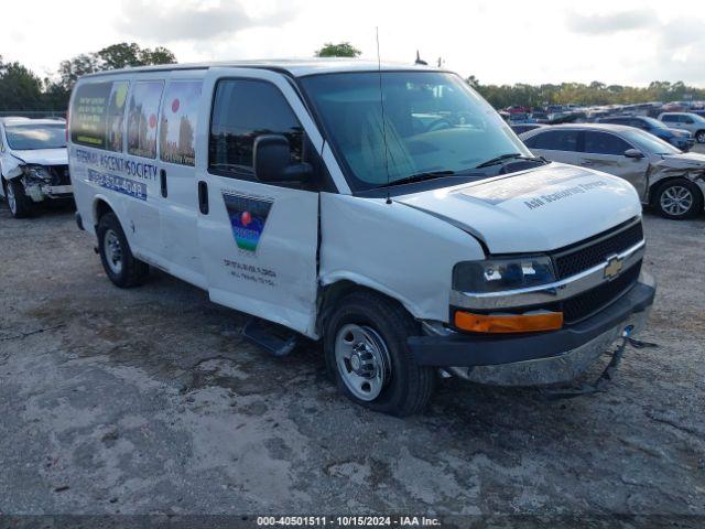
<svg viewBox="0 0 705 529"><path fill-rule="evenodd" d="M594 242L582 244L578 248L568 249L554 256L555 271L558 279L570 278L584 270L596 267L615 253L620 253L643 239L641 222L616 234L598 236Z"/></svg>

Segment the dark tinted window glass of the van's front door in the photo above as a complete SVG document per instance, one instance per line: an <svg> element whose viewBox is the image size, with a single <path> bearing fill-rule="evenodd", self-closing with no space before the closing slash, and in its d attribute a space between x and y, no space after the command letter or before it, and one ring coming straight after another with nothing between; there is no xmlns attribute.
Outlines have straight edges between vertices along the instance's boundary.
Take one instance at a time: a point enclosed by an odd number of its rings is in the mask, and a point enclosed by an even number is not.
<svg viewBox="0 0 705 529"><path fill-rule="evenodd" d="M224 176L252 177L254 140L263 134L284 136L292 163L301 162L303 128L274 85L256 79L218 82L210 118L208 169Z"/></svg>

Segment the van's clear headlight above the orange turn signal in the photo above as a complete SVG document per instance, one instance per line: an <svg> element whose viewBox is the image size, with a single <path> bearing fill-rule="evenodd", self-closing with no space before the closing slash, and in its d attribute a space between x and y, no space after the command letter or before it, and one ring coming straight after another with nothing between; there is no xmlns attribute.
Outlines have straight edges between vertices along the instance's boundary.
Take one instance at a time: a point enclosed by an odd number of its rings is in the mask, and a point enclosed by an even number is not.
<svg viewBox="0 0 705 529"><path fill-rule="evenodd" d="M460 292L501 292L555 281L547 256L527 256L458 262L453 268L453 289Z"/></svg>

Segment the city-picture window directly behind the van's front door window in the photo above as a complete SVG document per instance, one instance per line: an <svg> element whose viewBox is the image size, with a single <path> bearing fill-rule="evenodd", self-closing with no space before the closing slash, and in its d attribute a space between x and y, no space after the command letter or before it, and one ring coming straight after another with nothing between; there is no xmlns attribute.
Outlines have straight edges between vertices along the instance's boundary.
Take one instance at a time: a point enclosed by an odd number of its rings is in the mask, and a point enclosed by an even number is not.
<svg viewBox="0 0 705 529"><path fill-rule="evenodd" d="M166 88L159 129L160 158L169 163L195 165L196 121L200 80L173 80Z"/></svg>

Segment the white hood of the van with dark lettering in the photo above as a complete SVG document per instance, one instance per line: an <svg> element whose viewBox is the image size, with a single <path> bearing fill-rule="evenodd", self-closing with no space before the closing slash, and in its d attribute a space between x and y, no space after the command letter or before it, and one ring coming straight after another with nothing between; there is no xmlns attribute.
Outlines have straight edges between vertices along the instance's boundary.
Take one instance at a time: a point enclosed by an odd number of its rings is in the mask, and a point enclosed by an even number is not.
<svg viewBox="0 0 705 529"><path fill-rule="evenodd" d="M470 233L492 253L553 250L641 214L628 182L560 163L395 201Z"/></svg>

